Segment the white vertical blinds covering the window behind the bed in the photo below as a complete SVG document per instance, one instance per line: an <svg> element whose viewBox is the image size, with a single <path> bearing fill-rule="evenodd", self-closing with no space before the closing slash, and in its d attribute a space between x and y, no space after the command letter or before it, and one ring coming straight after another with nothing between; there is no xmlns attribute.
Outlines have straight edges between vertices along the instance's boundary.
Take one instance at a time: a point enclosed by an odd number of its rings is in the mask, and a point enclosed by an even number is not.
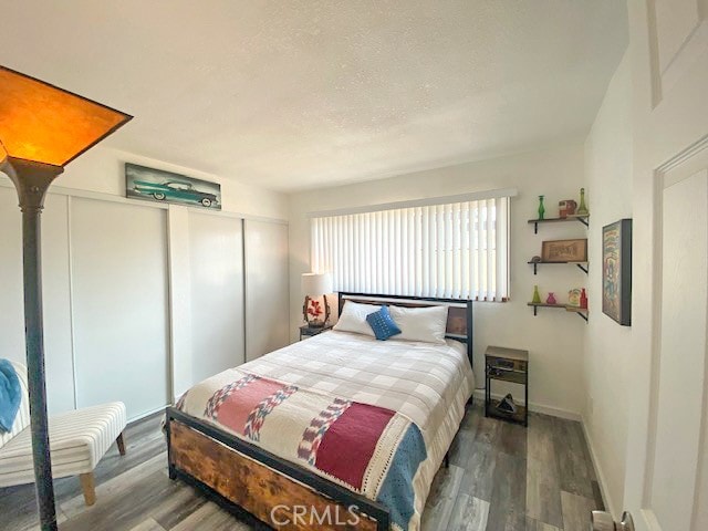
<svg viewBox="0 0 708 531"><path fill-rule="evenodd" d="M506 301L509 198L313 217L311 266L335 291Z"/></svg>

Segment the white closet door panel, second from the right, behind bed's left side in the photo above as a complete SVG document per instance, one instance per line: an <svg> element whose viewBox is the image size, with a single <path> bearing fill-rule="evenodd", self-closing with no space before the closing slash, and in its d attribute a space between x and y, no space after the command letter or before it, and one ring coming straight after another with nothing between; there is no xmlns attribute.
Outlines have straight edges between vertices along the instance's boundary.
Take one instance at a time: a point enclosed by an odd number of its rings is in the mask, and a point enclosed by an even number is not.
<svg viewBox="0 0 708 531"><path fill-rule="evenodd" d="M243 221L189 212L194 382L243 363Z"/></svg>

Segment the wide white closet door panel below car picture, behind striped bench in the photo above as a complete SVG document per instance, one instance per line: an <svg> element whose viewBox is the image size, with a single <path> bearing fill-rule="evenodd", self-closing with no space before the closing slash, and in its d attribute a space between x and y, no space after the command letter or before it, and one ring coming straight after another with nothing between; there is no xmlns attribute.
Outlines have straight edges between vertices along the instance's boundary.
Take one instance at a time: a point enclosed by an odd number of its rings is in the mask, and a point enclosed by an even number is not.
<svg viewBox="0 0 708 531"><path fill-rule="evenodd" d="M72 198L79 406L124 402L128 418L168 403L166 211Z"/></svg>

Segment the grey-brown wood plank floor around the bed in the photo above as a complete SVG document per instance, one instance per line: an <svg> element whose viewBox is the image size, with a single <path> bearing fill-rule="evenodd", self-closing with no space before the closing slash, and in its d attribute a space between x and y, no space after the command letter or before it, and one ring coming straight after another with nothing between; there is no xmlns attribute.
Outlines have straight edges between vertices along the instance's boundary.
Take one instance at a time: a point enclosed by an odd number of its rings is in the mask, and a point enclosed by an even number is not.
<svg viewBox="0 0 708 531"><path fill-rule="evenodd" d="M61 531L249 530L192 488L167 477L162 415L126 430L95 470L96 504L77 478L56 480ZM603 507L579 423L531 414L529 427L485 418L471 407L435 478L425 531L584 531ZM0 529L37 528L34 486L0 489Z"/></svg>

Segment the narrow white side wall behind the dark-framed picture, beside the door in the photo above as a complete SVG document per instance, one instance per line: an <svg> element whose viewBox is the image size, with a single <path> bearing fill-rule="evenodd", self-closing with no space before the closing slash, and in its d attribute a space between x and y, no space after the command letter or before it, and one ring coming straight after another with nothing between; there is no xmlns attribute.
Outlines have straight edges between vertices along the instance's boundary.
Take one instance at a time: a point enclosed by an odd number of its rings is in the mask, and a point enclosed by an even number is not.
<svg viewBox="0 0 708 531"><path fill-rule="evenodd" d="M593 190L587 293L593 319L585 331L583 421L606 503L622 508L628 423L632 327L602 313L602 228L632 218L632 72L625 55L585 142L585 176Z"/></svg>

